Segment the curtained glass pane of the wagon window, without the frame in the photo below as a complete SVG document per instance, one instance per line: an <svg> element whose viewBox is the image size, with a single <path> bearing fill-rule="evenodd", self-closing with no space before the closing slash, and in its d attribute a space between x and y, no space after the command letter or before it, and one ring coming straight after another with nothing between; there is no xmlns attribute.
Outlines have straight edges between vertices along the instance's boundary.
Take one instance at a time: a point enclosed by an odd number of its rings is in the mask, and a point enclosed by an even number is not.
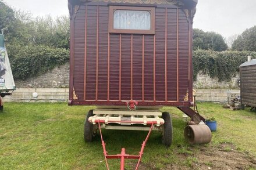
<svg viewBox="0 0 256 170"><path fill-rule="evenodd" d="M151 15L145 10L115 10L114 29L150 30Z"/></svg>

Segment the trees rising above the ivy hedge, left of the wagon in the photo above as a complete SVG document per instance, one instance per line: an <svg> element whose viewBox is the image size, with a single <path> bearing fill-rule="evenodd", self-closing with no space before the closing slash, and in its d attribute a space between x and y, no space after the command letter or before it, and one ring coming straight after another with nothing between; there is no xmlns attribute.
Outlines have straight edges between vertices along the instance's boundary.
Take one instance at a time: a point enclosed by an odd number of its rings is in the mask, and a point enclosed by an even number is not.
<svg viewBox="0 0 256 170"><path fill-rule="evenodd" d="M69 49L69 17L33 18L30 13L9 8L0 0L0 29L8 27L7 44L45 45Z"/></svg>

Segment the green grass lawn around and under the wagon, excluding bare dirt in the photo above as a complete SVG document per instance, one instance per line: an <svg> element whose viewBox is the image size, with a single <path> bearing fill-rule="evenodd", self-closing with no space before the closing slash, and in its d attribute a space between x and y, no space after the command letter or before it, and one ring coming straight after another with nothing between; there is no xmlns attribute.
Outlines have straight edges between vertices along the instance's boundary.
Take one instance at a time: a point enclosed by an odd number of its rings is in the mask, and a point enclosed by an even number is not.
<svg viewBox="0 0 256 170"><path fill-rule="evenodd" d="M5 103L4 107L0 113L0 169L106 169L99 135L92 143L83 140L84 118L94 107L67 103ZM234 146L225 146L227 152L235 149L256 156L256 113L248 108L231 111L214 103L198 103L198 110L218 120L212 142L190 146L184 140L183 113L164 107L162 111L169 111L173 117L173 144L166 149L160 134L152 132L141 169L168 169L169 165L191 168L199 161L194 153L222 143ZM138 154L146 135L147 132L103 130L109 154L119 154L122 147L127 154ZM135 164L136 160L127 160L126 168L132 169ZM119 169L118 160L110 160L109 165Z"/></svg>

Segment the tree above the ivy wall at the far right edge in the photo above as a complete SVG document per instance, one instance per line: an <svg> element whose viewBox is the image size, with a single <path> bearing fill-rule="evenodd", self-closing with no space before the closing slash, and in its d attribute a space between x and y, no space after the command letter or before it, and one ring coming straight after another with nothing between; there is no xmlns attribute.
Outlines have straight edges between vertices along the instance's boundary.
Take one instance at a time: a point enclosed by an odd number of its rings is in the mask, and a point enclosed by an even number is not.
<svg viewBox="0 0 256 170"><path fill-rule="evenodd" d="M247 28L232 44L232 50L256 51L256 26Z"/></svg>

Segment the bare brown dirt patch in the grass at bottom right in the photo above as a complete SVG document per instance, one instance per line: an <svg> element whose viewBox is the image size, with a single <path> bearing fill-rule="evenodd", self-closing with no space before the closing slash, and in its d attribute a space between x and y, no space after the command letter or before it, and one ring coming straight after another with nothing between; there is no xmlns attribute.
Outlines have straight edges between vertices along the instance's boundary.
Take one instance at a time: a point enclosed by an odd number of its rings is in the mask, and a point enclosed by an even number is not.
<svg viewBox="0 0 256 170"><path fill-rule="evenodd" d="M256 158L249 153L239 151L232 143L218 146L200 146L189 148L190 153L177 153L177 164L167 164L160 169L255 169ZM159 169L155 165L141 164L140 169Z"/></svg>

